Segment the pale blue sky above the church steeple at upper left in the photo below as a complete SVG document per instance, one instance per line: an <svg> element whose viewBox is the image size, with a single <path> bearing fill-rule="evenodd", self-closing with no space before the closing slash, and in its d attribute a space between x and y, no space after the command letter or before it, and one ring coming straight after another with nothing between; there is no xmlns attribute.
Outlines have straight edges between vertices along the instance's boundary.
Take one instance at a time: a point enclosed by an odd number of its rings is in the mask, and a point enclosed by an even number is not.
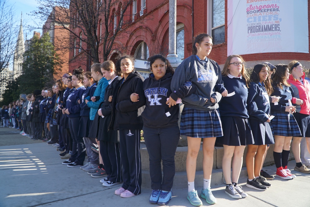
<svg viewBox="0 0 310 207"><path fill-rule="evenodd" d="M7 0L7 4L13 5L15 10L15 19L17 24L20 25L21 12L23 12L23 30L24 30L24 40L32 38L33 31L42 33L42 29L29 29L28 25L33 27L42 27L39 19L35 19L34 16L30 16L30 12L37 10L38 3L36 0ZM39 26L38 26L39 25Z"/></svg>

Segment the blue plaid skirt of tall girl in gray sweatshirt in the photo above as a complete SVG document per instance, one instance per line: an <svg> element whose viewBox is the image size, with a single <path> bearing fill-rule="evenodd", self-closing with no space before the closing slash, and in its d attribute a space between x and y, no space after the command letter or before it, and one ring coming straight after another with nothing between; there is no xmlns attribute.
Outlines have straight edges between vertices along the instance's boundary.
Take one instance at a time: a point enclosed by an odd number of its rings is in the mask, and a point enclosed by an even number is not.
<svg viewBox="0 0 310 207"><path fill-rule="evenodd" d="M219 110L197 110L184 107L181 115L180 135L208 138L223 136Z"/></svg>

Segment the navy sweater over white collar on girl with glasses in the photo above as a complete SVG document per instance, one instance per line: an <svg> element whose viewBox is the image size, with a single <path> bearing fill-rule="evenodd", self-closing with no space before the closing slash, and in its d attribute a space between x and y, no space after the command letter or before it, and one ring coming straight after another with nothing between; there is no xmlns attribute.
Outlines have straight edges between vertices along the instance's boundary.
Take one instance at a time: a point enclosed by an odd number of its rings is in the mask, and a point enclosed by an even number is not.
<svg viewBox="0 0 310 207"><path fill-rule="evenodd" d="M246 81L242 78L236 78L231 75L222 77L224 87L227 88L228 94L235 92L230 97L223 97L219 102L219 113L221 116L237 116L249 118L246 100L248 98L248 88Z"/></svg>

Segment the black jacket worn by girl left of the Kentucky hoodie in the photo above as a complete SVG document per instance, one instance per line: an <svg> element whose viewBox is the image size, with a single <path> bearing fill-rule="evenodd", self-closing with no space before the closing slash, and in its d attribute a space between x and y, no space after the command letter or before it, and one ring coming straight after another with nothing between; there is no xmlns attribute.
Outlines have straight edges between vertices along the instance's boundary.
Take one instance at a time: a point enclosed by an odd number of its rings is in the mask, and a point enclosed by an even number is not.
<svg viewBox="0 0 310 207"><path fill-rule="evenodd" d="M143 80L144 78L137 71L131 72L126 80L124 78L119 80L113 92L113 108L109 129L142 129L143 120L141 113L145 108ZM139 101L132 102L130 100L132 93L139 94Z"/></svg>

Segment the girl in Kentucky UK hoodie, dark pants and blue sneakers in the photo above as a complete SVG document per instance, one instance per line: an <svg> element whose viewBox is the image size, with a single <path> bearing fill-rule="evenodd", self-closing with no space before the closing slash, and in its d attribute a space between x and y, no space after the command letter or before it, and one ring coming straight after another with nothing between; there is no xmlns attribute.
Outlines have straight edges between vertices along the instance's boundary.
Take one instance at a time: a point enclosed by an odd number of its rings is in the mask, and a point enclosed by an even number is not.
<svg viewBox="0 0 310 207"><path fill-rule="evenodd" d="M180 89L170 89L174 70L162 55L150 57L152 73L143 82L145 109L142 112L145 145L150 158L152 194L150 203L166 205L171 199L171 188L175 175L175 151L180 139L178 126L178 98L183 98L196 91L190 81ZM132 94L131 101L138 101L138 95ZM142 100L141 100L142 101ZM161 160L164 169L162 180Z"/></svg>

